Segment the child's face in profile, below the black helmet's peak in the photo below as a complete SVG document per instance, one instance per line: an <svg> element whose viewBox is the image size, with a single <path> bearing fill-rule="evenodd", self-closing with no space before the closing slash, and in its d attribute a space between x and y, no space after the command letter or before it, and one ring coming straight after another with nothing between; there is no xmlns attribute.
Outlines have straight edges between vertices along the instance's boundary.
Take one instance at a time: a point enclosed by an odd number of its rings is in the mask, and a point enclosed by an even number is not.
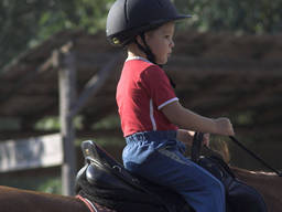
<svg viewBox="0 0 282 212"><path fill-rule="evenodd" d="M165 64L174 47L174 22L165 23L156 30L145 33L145 39L155 55L158 64Z"/></svg>

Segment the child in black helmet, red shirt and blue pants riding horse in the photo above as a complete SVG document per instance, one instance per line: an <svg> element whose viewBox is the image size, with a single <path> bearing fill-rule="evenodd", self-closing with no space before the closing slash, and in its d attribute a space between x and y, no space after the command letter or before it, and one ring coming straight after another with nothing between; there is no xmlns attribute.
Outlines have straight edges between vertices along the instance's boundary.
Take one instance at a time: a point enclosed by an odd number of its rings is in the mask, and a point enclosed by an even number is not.
<svg viewBox="0 0 282 212"><path fill-rule="evenodd" d="M117 0L109 11L107 36L128 51L116 96L122 158L128 170L178 192L196 212L224 212L221 182L183 152L193 139L188 130L234 135L232 126L184 108L160 67L174 46L174 21L188 17L170 0Z"/></svg>

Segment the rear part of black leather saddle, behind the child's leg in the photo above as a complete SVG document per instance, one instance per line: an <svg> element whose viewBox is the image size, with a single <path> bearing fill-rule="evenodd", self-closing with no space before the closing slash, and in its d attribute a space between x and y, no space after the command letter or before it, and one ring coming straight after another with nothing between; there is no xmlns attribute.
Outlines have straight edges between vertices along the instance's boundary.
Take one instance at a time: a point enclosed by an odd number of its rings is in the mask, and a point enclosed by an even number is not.
<svg viewBox="0 0 282 212"><path fill-rule="evenodd" d="M135 177L95 141L82 144L85 166L76 178L76 193L122 212L195 212L167 188Z"/></svg>

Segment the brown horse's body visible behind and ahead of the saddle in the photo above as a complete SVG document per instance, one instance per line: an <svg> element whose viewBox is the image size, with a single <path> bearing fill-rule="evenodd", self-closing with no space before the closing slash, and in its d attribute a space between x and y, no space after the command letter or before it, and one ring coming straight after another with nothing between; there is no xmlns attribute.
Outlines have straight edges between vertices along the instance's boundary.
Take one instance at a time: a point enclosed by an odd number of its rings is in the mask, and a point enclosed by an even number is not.
<svg viewBox="0 0 282 212"><path fill-rule="evenodd" d="M269 212L281 212L282 179L272 172L249 171L237 167L231 170L238 179L256 188L264 198ZM96 205L97 212L108 212ZM66 197L0 186L1 212L93 212L87 202L77 197Z"/></svg>

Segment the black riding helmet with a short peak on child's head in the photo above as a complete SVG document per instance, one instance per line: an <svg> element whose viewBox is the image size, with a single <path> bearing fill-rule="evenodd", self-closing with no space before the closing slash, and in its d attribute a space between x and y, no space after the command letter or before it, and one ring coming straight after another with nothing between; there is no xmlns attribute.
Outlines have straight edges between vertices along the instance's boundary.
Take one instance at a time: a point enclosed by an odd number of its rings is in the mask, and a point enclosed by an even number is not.
<svg viewBox="0 0 282 212"><path fill-rule="evenodd" d="M189 17L178 14L170 0L117 0L108 13L107 38L111 44L124 46L141 33Z"/></svg>

